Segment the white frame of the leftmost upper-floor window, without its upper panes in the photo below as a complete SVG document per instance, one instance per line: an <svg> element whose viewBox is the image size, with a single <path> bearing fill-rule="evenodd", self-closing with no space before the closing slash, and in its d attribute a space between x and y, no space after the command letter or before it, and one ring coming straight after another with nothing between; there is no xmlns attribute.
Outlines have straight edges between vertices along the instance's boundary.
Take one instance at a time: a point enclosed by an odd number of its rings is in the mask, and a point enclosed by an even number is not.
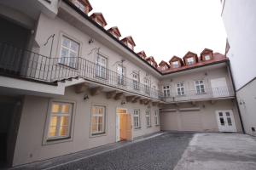
<svg viewBox="0 0 256 170"><path fill-rule="evenodd" d="M68 45L67 45L68 47L63 44L64 40L67 40L69 42ZM77 51L73 50L72 44L77 44L78 45ZM72 68L77 68L78 67L78 57L79 57L79 48L80 48L80 43L79 42L73 40L70 37L62 35L59 63L61 65L67 65L67 66L72 67ZM62 50L67 50L67 57L62 56ZM75 54L75 56L71 57L70 56L71 54Z"/></svg>

